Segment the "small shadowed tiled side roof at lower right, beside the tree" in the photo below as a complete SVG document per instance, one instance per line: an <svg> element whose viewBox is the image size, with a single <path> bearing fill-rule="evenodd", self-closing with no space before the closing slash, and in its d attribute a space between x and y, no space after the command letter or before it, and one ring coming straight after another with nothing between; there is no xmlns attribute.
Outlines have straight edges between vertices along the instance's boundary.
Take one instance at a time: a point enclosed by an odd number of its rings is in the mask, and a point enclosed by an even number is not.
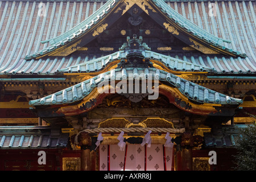
<svg viewBox="0 0 256 182"><path fill-rule="evenodd" d="M235 147L236 139L240 135L240 129L247 127L246 125L221 125L218 129L212 129L210 133L204 133L205 147L222 148Z"/></svg>

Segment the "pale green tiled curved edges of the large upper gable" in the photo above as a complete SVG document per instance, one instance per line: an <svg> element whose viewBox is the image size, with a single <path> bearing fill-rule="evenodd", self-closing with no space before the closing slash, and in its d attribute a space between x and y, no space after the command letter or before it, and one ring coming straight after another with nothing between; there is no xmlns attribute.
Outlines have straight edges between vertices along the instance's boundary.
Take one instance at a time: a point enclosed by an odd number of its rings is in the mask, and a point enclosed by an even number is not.
<svg viewBox="0 0 256 182"><path fill-rule="evenodd" d="M95 24L97 24L97 22L99 22L102 18L104 18L104 16L109 13L109 11L117 4L117 2L118 1L116 0L109 0L108 2L105 3L105 5L101 6L100 9L98 9L95 13L93 13L92 16L85 19L81 23L77 24L77 26L71 28L71 30L68 30L64 34L61 34L55 38L52 38L43 42L43 43L49 42L51 46L44 48L38 52L35 52L31 55L26 55L25 59L28 60L28 59L42 56L46 53L54 51L56 48L64 46L65 44L71 42L72 40L79 38L79 36L84 34L92 26L94 26ZM191 21L189 21L188 19L184 18L182 15L177 13L174 9L168 6L163 0L153 0L153 2L155 3L156 6L160 8L161 11L163 11L164 14L166 14L172 20L174 20L177 26L180 26L185 31L191 32L197 38L207 41L208 43L220 49L224 49L228 52L232 52L238 56L245 56L239 51L235 51L233 49L225 47L224 42L230 43L229 40L218 38L217 36L214 36L209 32L203 30L201 27L197 26L196 24L192 23Z"/></svg>

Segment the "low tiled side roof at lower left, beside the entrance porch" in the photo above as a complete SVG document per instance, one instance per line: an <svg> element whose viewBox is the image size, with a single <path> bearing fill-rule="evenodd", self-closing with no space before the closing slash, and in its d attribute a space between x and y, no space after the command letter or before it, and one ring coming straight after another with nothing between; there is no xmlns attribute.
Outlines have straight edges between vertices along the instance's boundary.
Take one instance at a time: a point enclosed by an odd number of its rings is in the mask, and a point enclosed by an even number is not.
<svg viewBox="0 0 256 182"><path fill-rule="evenodd" d="M67 147L68 134L60 130L39 126L1 126L1 149L63 148Z"/></svg>

